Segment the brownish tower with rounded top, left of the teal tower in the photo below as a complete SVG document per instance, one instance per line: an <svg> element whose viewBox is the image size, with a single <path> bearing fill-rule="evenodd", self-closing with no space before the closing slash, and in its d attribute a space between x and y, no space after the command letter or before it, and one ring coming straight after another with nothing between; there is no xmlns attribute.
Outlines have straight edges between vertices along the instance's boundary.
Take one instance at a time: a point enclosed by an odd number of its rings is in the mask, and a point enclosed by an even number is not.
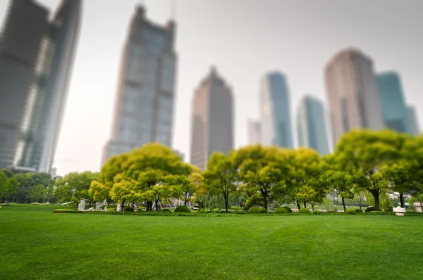
<svg viewBox="0 0 423 280"><path fill-rule="evenodd" d="M344 49L326 65L325 79L334 146L351 129L384 129L370 58L356 49Z"/></svg>

